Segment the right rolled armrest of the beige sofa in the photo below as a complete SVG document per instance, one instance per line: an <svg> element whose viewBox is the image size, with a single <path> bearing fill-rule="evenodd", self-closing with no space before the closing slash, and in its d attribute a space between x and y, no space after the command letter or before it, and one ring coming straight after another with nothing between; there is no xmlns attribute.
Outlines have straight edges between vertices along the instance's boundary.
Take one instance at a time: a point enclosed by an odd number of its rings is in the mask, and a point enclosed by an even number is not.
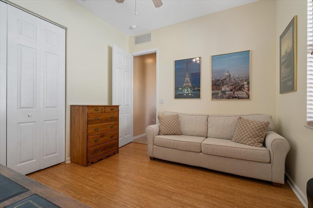
<svg viewBox="0 0 313 208"><path fill-rule="evenodd" d="M272 166L272 182L285 183L285 162L288 151L290 150L289 142L276 132L265 133L264 146L269 150L270 163Z"/></svg>

